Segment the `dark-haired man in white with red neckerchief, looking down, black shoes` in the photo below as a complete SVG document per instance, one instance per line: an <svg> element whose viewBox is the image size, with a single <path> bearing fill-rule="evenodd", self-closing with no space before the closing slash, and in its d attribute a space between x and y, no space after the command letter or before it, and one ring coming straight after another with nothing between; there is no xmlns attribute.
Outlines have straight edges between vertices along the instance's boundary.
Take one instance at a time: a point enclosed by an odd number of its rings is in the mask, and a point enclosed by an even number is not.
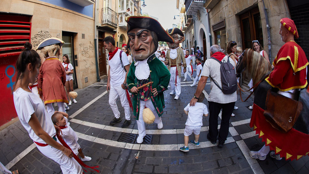
<svg viewBox="0 0 309 174"><path fill-rule="evenodd" d="M108 102L111 105L115 118L110 124L121 122L120 113L116 104L118 95L120 97L121 106L125 111L126 120L122 124L122 128L126 128L131 124L130 106L126 94L126 76L130 69L130 63L126 53L115 46L115 40L111 36L103 39L105 49L108 51L108 79L107 91L109 91Z"/></svg>

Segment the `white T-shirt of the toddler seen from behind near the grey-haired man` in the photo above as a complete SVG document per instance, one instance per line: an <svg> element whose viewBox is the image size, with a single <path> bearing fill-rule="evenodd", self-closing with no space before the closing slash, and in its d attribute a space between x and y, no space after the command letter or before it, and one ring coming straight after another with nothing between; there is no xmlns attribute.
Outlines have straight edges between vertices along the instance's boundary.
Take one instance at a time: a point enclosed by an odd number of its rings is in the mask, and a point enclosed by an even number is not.
<svg viewBox="0 0 309 174"><path fill-rule="evenodd" d="M203 115L208 114L207 106L200 102L196 102L195 106L190 106L189 103L183 110L189 111L187 126L202 126Z"/></svg>

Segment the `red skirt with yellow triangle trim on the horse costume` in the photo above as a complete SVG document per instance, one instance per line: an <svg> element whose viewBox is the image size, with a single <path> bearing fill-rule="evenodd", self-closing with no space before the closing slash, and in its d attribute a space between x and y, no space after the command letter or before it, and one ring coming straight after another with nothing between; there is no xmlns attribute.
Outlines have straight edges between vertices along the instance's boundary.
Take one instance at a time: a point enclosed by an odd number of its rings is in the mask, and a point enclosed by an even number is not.
<svg viewBox="0 0 309 174"><path fill-rule="evenodd" d="M253 104L250 127L253 127L259 138L270 150L285 157L286 160L299 159L309 154L309 135L292 128L286 133L273 128L264 117L264 110Z"/></svg>

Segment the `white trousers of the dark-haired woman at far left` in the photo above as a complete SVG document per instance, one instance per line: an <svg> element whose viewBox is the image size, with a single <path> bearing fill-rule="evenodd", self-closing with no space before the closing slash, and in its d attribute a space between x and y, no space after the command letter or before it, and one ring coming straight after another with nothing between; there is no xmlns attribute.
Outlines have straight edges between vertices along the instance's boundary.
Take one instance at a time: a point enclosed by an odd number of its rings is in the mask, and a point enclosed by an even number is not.
<svg viewBox="0 0 309 174"><path fill-rule="evenodd" d="M57 142L60 143L58 138ZM36 147L39 149L41 153L43 153L43 155L60 164L60 168L63 174L83 173L83 169L78 164L78 162L73 157L69 158L68 156L64 155L64 153L61 150L51 147L50 145L45 147L36 145Z"/></svg>

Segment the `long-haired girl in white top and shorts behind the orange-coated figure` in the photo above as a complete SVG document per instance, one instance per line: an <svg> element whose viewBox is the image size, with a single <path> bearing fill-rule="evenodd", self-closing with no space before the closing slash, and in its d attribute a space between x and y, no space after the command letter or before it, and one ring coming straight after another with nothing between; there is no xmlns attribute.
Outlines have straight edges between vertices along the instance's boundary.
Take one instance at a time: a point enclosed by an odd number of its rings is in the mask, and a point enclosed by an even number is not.
<svg viewBox="0 0 309 174"><path fill-rule="evenodd" d="M71 101L71 97L69 95L70 93L70 90L71 91L74 91L73 90L73 65L70 63L70 60L69 60L69 56L67 54L63 55L63 67L64 67L64 70L65 70L65 73L66 73L66 80L65 80L65 88L67 90L67 95L68 95L68 99L70 100L69 101L69 105L72 104L72 101ZM77 101L75 99L73 99L73 102L74 103L77 103Z"/></svg>

